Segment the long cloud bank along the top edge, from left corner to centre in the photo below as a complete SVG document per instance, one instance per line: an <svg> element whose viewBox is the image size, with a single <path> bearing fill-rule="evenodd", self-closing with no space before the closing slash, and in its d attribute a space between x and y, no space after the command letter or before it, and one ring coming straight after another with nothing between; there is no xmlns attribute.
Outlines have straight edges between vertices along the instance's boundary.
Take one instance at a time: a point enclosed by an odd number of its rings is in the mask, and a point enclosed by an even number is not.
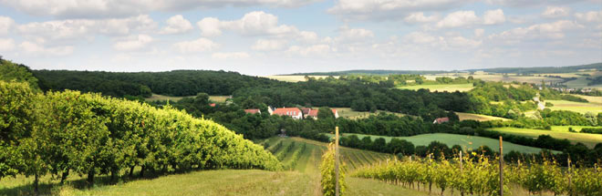
<svg viewBox="0 0 602 196"><path fill-rule="evenodd" d="M184 11L223 6L296 7L317 1L319 0L0 0L0 4L13 7L29 15L100 18L140 15L152 11Z"/></svg>

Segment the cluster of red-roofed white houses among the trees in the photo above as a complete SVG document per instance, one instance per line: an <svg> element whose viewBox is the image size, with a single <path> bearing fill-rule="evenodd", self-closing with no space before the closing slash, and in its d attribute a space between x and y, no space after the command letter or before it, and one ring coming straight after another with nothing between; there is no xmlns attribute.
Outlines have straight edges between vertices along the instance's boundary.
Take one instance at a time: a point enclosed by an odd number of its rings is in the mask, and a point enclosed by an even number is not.
<svg viewBox="0 0 602 196"><path fill-rule="evenodd" d="M332 114L335 115L335 119L338 118L338 112L337 109L331 109L332 110ZM261 110L258 108L249 108L249 109L244 109L244 112L248 113L248 114L261 114ZM307 118L312 118L312 119L317 119L317 113L318 113L318 109L317 108L273 108L273 107L267 107L267 112L270 113L270 115L278 115L278 116L288 116L291 117L293 119L307 119Z"/></svg>

